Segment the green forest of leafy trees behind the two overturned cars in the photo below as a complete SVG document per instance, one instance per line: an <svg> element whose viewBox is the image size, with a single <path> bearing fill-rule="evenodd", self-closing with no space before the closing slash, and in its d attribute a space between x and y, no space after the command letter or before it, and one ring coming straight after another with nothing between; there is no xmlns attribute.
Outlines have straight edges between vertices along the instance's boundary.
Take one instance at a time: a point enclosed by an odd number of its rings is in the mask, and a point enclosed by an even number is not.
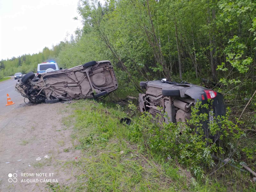
<svg viewBox="0 0 256 192"><path fill-rule="evenodd" d="M253 0L85 0L77 9L84 26L70 41L1 60L0 78L36 72L47 60L62 68L111 60L126 93L140 91L140 81L163 77L196 84L204 78L215 88L239 91L238 97L255 90Z"/></svg>

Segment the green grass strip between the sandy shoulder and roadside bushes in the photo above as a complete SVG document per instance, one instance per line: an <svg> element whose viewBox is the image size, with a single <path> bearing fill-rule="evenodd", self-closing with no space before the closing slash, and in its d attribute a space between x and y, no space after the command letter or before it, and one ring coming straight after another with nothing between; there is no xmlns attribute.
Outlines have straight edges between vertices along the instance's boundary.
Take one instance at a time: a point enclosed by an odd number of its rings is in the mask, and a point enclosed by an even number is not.
<svg viewBox="0 0 256 192"><path fill-rule="evenodd" d="M113 105L78 100L70 106L74 113L63 123L72 126L71 139L79 141L72 150L81 150L81 157L62 168L77 170L77 180L51 184L53 191L226 191L210 179L198 183L189 170L129 142L129 126L119 123L127 114Z"/></svg>

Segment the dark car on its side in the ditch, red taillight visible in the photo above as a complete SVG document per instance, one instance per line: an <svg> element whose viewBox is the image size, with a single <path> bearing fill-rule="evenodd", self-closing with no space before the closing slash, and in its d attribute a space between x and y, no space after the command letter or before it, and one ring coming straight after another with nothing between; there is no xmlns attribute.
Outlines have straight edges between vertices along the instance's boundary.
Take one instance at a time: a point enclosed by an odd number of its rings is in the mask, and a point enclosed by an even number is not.
<svg viewBox="0 0 256 192"><path fill-rule="evenodd" d="M139 94L141 112L149 112L153 117L159 114L160 123L184 122L191 118L191 108L198 101L210 103L209 108L200 108L200 113L208 114L208 121L202 122L206 137L211 136L208 125L213 123L214 116L226 113L223 96L219 92L188 83L168 82L166 79L140 82L146 93ZM212 102L208 102L211 100ZM164 115L167 114L168 116ZM218 135L215 135L218 137Z"/></svg>

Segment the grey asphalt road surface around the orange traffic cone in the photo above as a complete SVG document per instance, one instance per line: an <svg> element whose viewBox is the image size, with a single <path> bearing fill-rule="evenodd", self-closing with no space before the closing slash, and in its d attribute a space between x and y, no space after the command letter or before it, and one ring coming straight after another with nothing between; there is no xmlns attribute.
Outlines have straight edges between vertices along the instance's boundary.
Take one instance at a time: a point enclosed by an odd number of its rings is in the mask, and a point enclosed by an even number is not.
<svg viewBox="0 0 256 192"><path fill-rule="evenodd" d="M13 76L10 80L0 82L0 121L2 119L1 116L9 113L12 109L24 103L24 97L22 97L20 93L16 92L14 89L14 86L17 82L18 80L14 80ZM7 104L7 93L12 99L12 102L15 104L5 106Z"/></svg>

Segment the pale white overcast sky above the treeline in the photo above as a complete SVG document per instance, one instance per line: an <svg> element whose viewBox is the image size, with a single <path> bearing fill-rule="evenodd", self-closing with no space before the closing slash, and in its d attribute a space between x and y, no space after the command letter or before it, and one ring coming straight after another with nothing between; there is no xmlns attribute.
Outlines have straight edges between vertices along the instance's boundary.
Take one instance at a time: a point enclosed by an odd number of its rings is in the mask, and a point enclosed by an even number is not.
<svg viewBox="0 0 256 192"><path fill-rule="evenodd" d="M0 60L33 54L82 28L78 0L0 0Z"/></svg>

